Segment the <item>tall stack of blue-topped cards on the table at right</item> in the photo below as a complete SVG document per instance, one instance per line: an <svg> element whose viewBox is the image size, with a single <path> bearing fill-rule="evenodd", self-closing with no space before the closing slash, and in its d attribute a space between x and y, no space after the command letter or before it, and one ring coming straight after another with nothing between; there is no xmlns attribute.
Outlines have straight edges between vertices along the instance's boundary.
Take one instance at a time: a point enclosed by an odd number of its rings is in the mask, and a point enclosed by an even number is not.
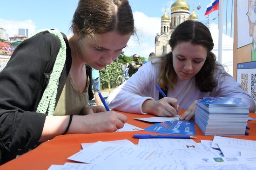
<svg viewBox="0 0 256 170"><path fill-rule="evenodd" d="M207 97L195 109L195 123L207 136L243 136L248 116L249 105L234 97Z"/></svg>

